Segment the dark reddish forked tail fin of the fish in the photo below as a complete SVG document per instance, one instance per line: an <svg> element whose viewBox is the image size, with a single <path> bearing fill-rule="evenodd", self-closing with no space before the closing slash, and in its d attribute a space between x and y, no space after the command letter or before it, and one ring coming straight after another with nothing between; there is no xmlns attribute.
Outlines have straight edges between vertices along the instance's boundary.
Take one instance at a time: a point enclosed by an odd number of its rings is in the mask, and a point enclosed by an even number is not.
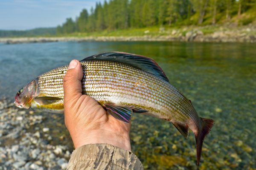
<svg viewBox="0 0 256 170"><path fill-rule="evenodd" d="M204 118L201 118L201 119L202 119L201 130L198 131L198 134L195 134L197 165L200 164L204 137L210 132L212 126L214 125L214 120L212 119L204 119Z"/></svg>

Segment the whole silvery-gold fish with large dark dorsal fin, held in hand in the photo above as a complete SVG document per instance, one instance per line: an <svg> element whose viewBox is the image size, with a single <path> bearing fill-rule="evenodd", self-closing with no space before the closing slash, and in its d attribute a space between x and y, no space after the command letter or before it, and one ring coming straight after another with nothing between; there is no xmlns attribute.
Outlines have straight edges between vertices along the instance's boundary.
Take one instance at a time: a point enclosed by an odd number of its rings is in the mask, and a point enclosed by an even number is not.
<svg viewBox="0 0 256 170"><path fill-rule="evenodd" d="M214 120L198 116L192 102L170 84L163 69L149 57L124 52L106 52L81 60L82 94L95 99L114 118L129 123L132 113L171 122L187 138L195 134L197 165L204 137ZM33 79L15 96L19 108L64 112L63 77L68 65Z"/></svg>

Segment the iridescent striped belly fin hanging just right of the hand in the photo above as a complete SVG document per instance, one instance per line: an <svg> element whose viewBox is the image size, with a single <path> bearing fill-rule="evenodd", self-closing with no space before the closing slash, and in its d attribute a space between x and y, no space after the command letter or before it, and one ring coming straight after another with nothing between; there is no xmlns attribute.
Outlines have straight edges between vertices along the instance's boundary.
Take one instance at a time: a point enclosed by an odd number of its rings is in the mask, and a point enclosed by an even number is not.
<svg viewBox="0 0 256 170"><path fill-rule="evenodd" d="M117 106L112 103L106 103L105 107L107 112L114 118L121 120L122 122L129 123L131 120L132 110L128 107Z"/></svg>

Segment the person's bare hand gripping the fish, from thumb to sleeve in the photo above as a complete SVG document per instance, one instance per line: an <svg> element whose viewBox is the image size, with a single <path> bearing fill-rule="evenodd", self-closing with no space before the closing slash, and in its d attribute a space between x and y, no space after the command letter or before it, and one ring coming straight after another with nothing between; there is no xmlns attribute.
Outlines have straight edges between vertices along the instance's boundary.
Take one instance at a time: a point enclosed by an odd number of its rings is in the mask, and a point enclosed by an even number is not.
<svg viewBox="0 0 256 170"><path fill-rule="evenodd" d="M72 60L63 79L64 119L75 148L108 143L131 150L130 124L115 119L96 100L83 95L82 77L80 62Z"/></svg>

